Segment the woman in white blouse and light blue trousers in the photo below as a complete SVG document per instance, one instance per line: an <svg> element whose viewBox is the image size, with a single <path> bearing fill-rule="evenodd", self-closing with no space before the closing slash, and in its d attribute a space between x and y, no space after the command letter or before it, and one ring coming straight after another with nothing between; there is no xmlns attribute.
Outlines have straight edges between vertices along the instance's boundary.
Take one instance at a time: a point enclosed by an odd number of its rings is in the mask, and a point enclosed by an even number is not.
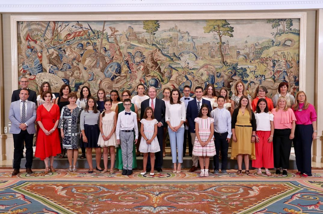
<svg viewBox="0 0 323 214"><path fill-rule="evenodd" d="M170 103L166 105L165 120L168 125L169 140L171 143L173 172L180 173L183 163L184 122L186 110L184 102L177 88L172 89ZM176 166L176 149L178 151L178 165Z"/></svg>

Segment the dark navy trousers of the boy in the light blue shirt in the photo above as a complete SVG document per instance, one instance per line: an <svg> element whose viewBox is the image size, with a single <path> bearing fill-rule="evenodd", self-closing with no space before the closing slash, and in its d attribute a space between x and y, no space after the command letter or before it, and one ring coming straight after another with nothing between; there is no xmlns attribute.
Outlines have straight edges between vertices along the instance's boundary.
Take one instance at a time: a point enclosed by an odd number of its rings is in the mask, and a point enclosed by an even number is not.
<svg viewBox="0 0 323 214"><path fill-rule="evenodd" d="M228 149L229 149L229 143L226 140L228 136L228 133L216 133L214 132L214 144L215 144L215 151L216 154L213 156L213 163L214 163L214 169L219 170L219 154L221 151L221 170L226 170L228 165Z"/></svg>

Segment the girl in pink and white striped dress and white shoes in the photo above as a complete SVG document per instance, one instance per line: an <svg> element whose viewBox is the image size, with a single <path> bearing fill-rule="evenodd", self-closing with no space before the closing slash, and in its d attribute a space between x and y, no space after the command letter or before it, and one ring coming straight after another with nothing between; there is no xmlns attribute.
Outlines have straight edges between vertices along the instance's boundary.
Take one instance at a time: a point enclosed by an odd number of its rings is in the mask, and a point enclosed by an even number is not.
<svg viewBox="0 0 323 214"><path fill-rule="evenodd" d="M196 137L193 155L199 156L201 166L200 176L208 177L210 157L215 155L215 145L213 140L214 119L210 116L209 108L206 104L201 106L199 116L194 121Z"/></svg>

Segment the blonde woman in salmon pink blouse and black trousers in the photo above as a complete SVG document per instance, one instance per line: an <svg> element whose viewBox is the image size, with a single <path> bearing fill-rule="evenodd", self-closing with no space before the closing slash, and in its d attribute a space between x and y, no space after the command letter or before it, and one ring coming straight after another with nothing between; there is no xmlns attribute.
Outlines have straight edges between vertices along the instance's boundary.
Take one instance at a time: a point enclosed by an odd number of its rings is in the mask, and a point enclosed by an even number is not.
<svg viewBox="0 0 323 214"><path fill-rule="evenodd" d="M291 108L287 107L287 101L284 97L279 97L277 107L273 109L274 115L274 166L276 174L280 174L280 168L283 168L283 175L287 175L289 167L289 155L292 147L292 140L295 132L295 115Z"/></svg>

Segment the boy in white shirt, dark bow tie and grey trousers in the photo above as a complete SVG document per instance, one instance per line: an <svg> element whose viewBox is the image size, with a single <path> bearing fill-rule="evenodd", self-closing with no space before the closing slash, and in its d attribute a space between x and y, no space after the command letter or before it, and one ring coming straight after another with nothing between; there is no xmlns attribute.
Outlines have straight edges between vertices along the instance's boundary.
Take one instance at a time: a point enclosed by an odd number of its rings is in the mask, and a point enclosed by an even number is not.
<svg viewBox="0 0 323 214"><path fill-rule="evenodd" d="M137 114L130 110L130 99L125 99L123 101L123 106L125 110L119 113L116 135L117 143L120 144L122 151L122 175L131 175L133 142L137 144L138 140ZM133 139L133 132L135 132L135 140Z"/></svg>

